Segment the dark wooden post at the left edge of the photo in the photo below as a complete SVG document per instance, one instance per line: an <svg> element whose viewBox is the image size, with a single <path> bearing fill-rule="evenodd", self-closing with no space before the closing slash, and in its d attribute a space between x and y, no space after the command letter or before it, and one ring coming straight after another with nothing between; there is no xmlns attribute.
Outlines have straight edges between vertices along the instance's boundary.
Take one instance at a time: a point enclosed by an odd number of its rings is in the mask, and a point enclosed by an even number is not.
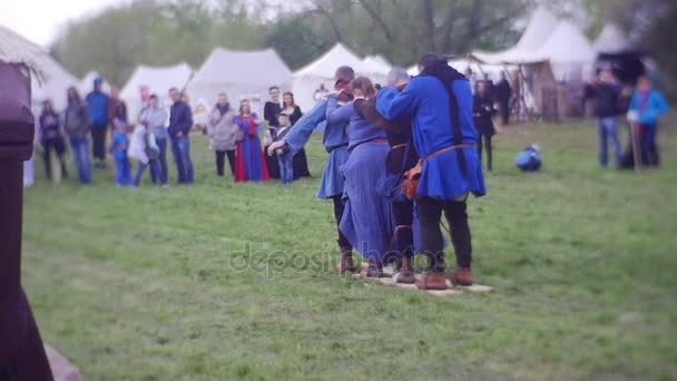
<svg viewBox="0 0 677 381"><path fill-rule="evenodd" d="M26 66L0 61L0 380L52 380L42 340L21 286L23 162L35 119Z"/></svg>

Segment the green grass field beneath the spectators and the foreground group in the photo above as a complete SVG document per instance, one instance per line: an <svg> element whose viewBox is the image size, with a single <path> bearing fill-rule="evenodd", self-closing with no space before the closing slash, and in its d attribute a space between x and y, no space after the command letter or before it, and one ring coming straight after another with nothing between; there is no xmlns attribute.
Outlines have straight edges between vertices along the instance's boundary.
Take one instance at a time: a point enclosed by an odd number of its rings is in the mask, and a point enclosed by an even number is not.
<svg viewBox="0 0 677 381"><path fill-rule="evenodd" d="M283 188L217 179L202 136L193 187L118 189L111 170L50 185L38 166L23 282L45 340L86 380L670 380L676 121L663 169L642 174L600 169L591 123L499 136L470 209L494 294L341 279L331 206L314 198L320 141L315 178ZM521 174L512 159L534 141L544 170Z"/></svg>

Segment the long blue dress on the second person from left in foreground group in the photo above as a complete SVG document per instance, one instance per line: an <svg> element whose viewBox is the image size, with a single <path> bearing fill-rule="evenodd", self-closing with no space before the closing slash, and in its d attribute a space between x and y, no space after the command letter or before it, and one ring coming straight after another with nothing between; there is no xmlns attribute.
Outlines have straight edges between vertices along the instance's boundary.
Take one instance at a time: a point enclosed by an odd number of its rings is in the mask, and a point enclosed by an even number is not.
<svg viewBox="0 0 677 381"><path fill-rule="evenodd" d="M336 97L328 99L326 119L330 125L349 123L350 157L341 167L345 211L338 228L363 257L381 263L390 250L395 225L391 202L376 190L387 170L390 146L385 133L360 117L353 102L340 107Z"/></svg>

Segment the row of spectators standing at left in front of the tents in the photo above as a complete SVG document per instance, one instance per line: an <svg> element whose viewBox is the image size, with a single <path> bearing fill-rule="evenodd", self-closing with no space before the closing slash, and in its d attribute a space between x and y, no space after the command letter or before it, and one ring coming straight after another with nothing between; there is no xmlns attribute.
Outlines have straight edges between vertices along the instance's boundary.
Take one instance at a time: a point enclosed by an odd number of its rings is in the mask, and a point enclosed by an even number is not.
<svg viewBox="0 0 677 381"><path fill-rule="evenodd" d="M176 88L169 90L171 107L167 113L157 95L150 95L138 118L130 123L127 107L118 98L116 88L110 95L101 90L102 80L96 78L94 90L85 100L75 87L68 89L68 105L57 113L50 100L43 102L38 118L38 137L43 148L42 155L47 177L52 178L52 159L58 160L62 177L68 176L66 164L67 141L82 184L91 182L91 168L106 168L106 158L115 159L115 183L117 186L138 186L146 168L150 178L167 187L167 150L170 149L176 164L177 183L188 185L195 182L195 170L190 156L190 131L194 127L193 111L184 95ZM279 104L279 89L271 88L271 101L265 107L266 135L271 143L282 137L292 124L303 115L294 102L292 92L284 94ZM281 178L284 184L310 177L305 152L279 153L278 159L266 159L259 140L264 123L252 110L248 99L243 99L239 109L230 107L226 94L218 101L208 118L209 146L216 155L216 173L225 175L228 159L236 182L267 180ZM282 133L282 134L281 134ZM109 141L108 147L106 143ZM91 156L89 146L91 145ZM268 143L269 145L269 143ZM94 165L90 157L94 157ZM136 175L131 174L130 159L138 162Z"/></svg>

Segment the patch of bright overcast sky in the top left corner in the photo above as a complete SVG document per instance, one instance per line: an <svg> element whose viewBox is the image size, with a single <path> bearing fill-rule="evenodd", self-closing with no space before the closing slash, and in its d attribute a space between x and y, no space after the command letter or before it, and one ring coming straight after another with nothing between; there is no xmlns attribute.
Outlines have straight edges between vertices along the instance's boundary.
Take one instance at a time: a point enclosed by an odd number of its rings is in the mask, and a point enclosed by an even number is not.
<svg viewBox="0 0 677 381"><path fill-rule="evenodd" d="M128 0L0 0L0 25L48 47L68 20Z"/></svg>

